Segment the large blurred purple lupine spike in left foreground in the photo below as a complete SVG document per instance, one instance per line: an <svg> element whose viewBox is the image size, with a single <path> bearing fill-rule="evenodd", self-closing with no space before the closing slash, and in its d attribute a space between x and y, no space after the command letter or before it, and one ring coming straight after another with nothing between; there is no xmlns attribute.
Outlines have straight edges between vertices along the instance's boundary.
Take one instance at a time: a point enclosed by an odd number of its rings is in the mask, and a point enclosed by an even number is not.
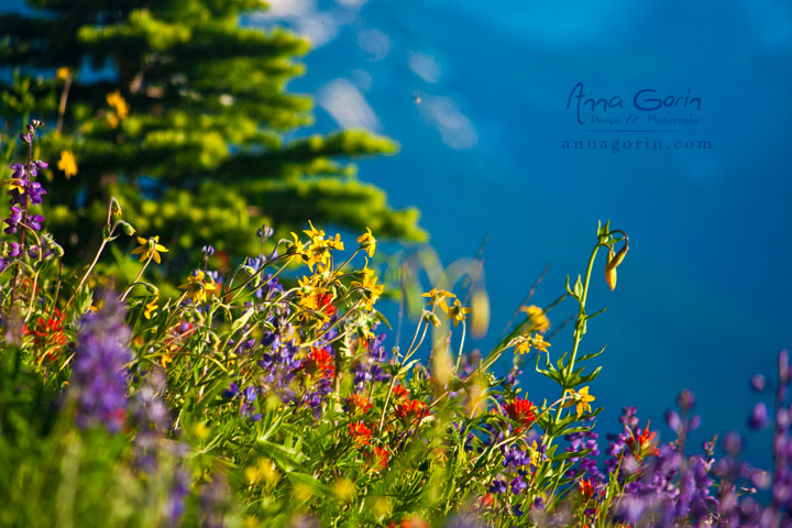
<svg viewBox="0 0 792 528"><path fill-rule="evenodd" d="M130 339L125 309L108 293L102 307L80 320L69 393L77 404L77 425L121 430L127 414L125 364L132 359L123 344Z"/></svg>

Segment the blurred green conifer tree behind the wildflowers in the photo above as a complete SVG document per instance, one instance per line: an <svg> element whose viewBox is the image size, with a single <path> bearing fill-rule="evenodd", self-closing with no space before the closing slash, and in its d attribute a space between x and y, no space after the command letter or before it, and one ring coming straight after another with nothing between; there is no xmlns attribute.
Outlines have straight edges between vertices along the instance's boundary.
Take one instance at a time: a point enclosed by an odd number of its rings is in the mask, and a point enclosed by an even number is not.
<svg viewBox="0 0 792 528"><path fill-rule="evenodd" d="M177 267L202 244L256 254L262 224L279 235L311 219L425 238L415 209L393 210L349 164L394 153L391 140L360 130L284 140L312 122L311 99L286 90L309 43L241 28L261 1L28 3L0 14L0 67L13 72L0 81L0 117L7 133L44 120L40 157L51 167L74 154L77 174L54 169L48 185L50 228L67 253L96 235L110 195L140 234L182 250L180 261L169 255Z"/></svg>

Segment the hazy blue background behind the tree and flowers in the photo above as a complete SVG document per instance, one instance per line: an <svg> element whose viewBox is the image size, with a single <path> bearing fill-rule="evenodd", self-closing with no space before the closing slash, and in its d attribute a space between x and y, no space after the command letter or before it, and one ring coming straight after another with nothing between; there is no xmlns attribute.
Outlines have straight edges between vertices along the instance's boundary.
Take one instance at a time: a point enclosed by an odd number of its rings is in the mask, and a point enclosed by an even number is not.
<svg viewBox="0 0 792 528"><path fill-rule="evenodd" d="M584 352L607 343L592 386L605 407L598 430L618 431L624 405L660 426L685 387L703 415L696 441L745 429L757 400L749 375L773 374L791 342L788 2L271 3L249 22L285 23L315 42L307 76L289 85L317 95L314 130L364 125L402 144L395 157L362 163L361 178L394 206L421 209L444 264L488 237L493 322L477 345L492 346L548 261L537 304L584 273L597 220L609 218L631 243L616 290L603 254L588 299L590 312L608 307L582 343ZM636 139L582 132L566 109L578 81L625 106L641 88L690 89L701 111L666 114L693 113L700 124L651 139L706 140L712 150L562 150L566 140ZM568 301L551 319L574 312ZM562 332L550 350L570 348ZM521 387L536 399L557 395L530 365ZM767 461L768 435L747 446Z"/></svg>

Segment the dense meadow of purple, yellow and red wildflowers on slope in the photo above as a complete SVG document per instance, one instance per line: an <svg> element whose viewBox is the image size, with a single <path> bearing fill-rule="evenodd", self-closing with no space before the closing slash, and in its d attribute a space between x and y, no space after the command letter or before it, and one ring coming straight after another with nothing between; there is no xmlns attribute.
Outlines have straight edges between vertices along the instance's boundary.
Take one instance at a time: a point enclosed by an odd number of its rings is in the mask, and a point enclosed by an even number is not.
<svg viewBox="0 0 792 528"><path fill-rule="evenodd" d="M68 151L34 157L42 127L2 169L0 525L792 526L788 352L751 378L771 468L741 460L735 432L689 444L690 391L666 416L675 438L632 407L596 421L607 358L584 340L600 314L586 297L629 264L607 222L561 292L579 306L572 342L552 339L552 306L529 305L492 351L469 352L473 270L425 285L388 348L371 230L343 240L306 218L273 240L263 226L261 253L222 267L207 243L166 295L151 278L165 241L112 198L91 260L65 265L46 194L78 167ZM101 271L110 249L132 282ZM531 376L558 389L529 395Z"/></svg>

